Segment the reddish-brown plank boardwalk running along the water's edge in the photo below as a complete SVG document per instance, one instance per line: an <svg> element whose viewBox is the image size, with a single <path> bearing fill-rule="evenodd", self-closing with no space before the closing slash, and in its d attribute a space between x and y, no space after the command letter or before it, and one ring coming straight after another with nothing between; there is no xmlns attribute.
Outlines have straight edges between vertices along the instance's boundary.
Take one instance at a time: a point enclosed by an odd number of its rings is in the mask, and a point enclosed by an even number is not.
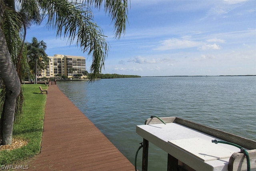
<svg viewBox="0 0 256 171"><path fill-rule="evenodd" d="M41 146L41 153L28 161L29 170L134 170L57 85L48 88Z"/></svg>

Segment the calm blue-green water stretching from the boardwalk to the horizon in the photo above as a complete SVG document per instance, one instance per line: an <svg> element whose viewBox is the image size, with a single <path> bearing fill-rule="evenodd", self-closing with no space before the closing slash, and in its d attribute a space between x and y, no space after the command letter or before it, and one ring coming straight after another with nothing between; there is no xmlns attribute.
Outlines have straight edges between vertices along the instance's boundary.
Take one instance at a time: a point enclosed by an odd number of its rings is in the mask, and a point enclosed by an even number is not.
<svg viewBox="0 0 256 171"><path fill-rule="evenodd" d="M148 77L58 82L59 88L134 164L136 125L151 115L180 117L256 140L256 77ZM142 149L137 168L141 170ZM149 171L167 153L150 143Z"/></svg>

